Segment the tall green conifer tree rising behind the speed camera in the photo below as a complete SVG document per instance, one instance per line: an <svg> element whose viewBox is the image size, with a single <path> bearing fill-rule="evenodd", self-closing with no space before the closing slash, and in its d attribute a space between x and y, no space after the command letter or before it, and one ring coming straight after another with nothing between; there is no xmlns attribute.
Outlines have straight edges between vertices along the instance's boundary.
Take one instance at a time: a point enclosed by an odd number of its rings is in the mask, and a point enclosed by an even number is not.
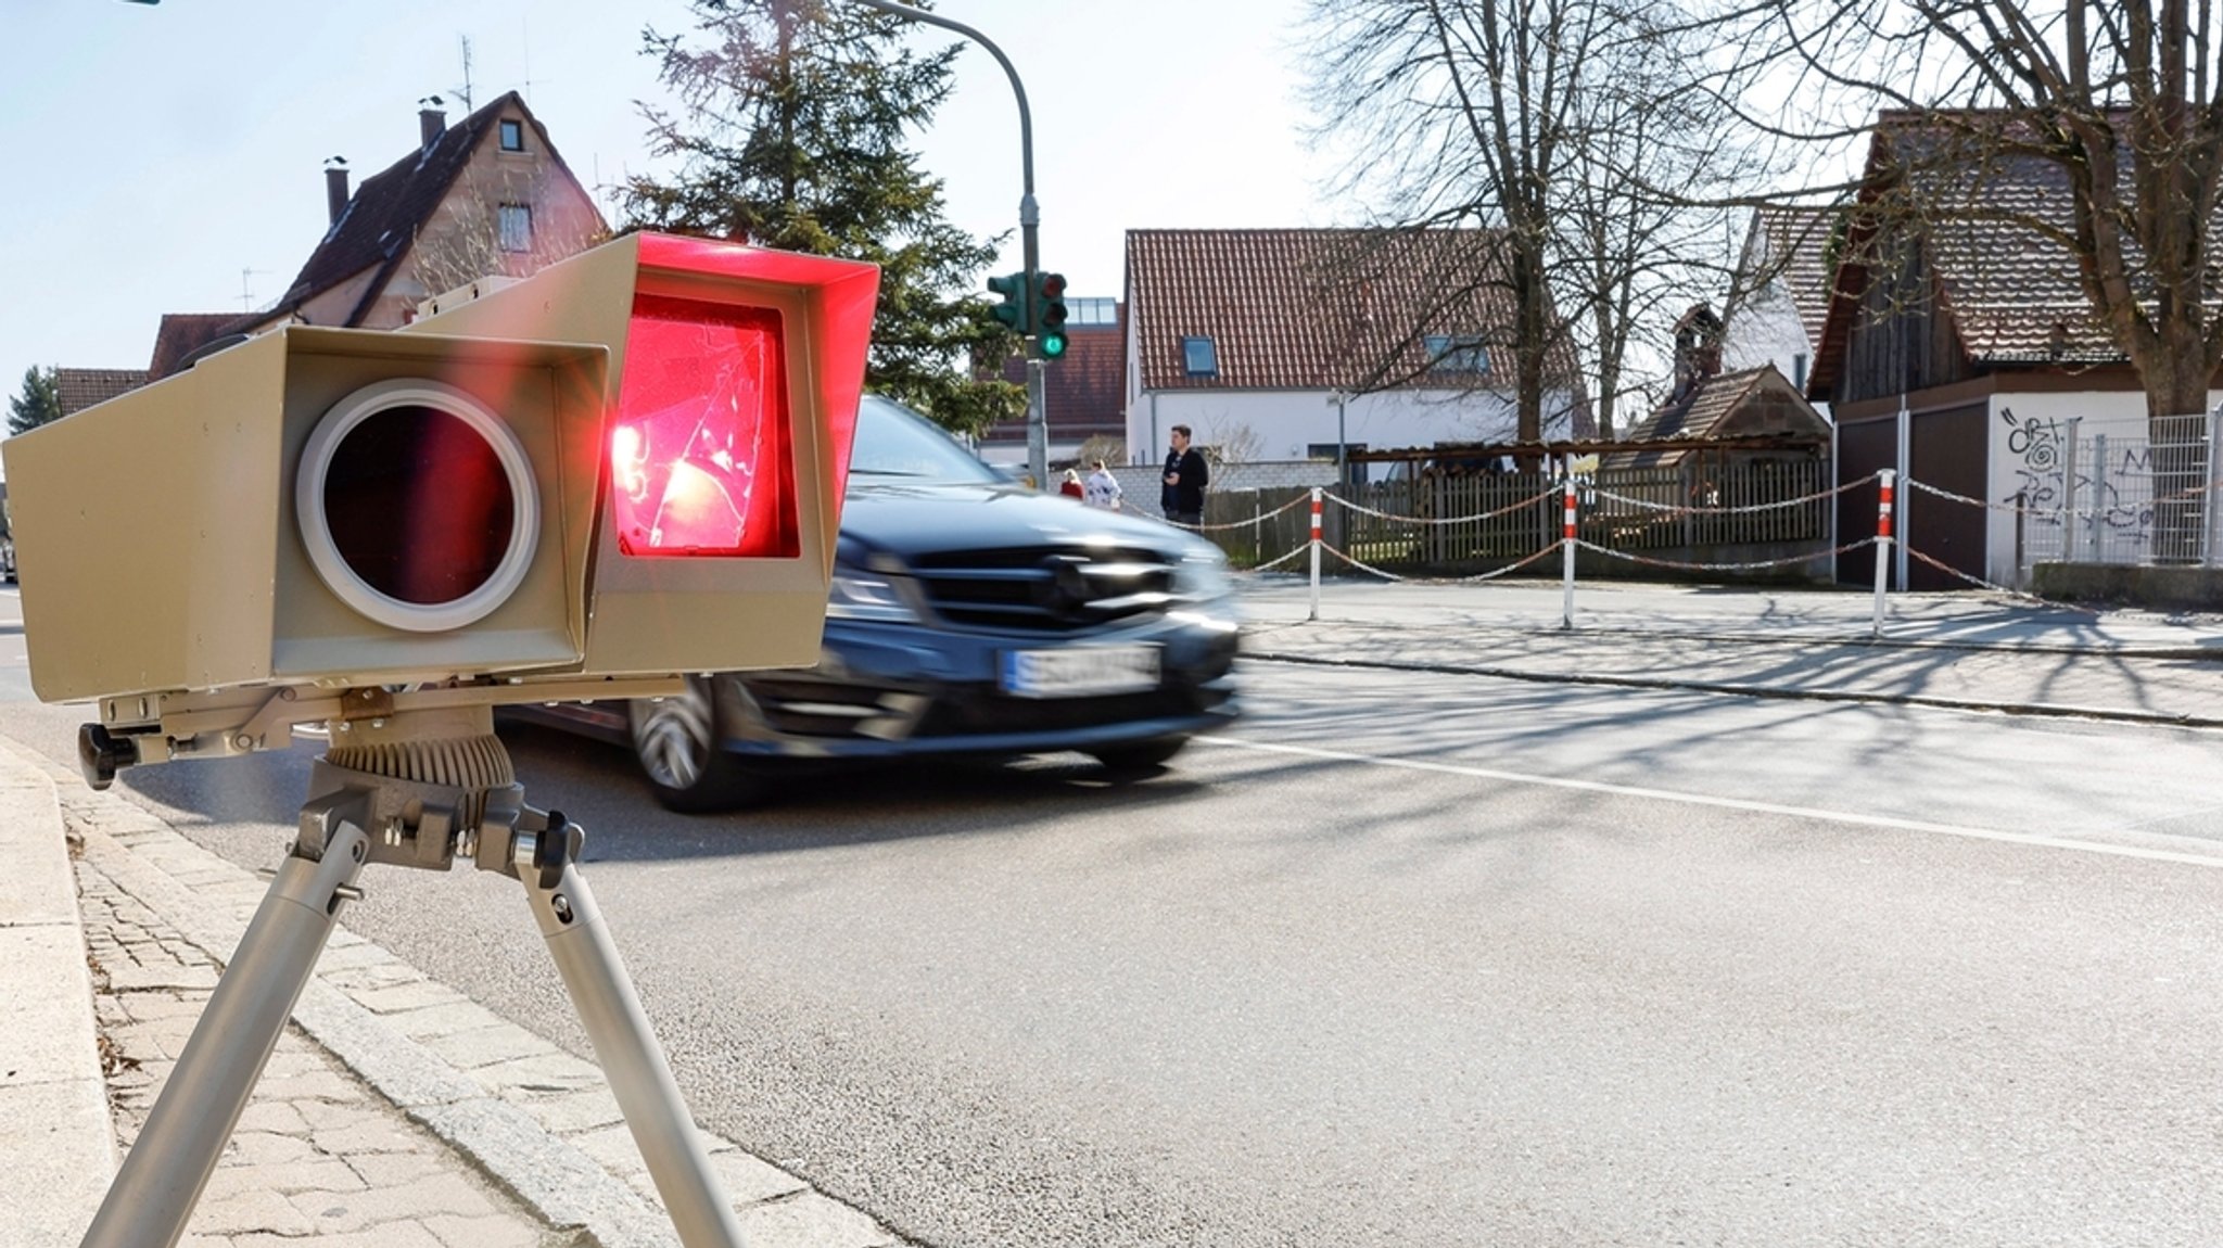
<svg viewBox="0 0 2223 1248"><path fill-rule="evenodd" d="M629 180L627 227L869 260L865 386L958 431L1020 415L1018 386L974 375L1018 346L969 298L998 240L943 220L943 182L905 147L949 95L958 47L918 56L900 42L909 24L838 0L694 0L691 13L689 33L645 33L678 100L645 109L649 149L678 169Z"/></svg>

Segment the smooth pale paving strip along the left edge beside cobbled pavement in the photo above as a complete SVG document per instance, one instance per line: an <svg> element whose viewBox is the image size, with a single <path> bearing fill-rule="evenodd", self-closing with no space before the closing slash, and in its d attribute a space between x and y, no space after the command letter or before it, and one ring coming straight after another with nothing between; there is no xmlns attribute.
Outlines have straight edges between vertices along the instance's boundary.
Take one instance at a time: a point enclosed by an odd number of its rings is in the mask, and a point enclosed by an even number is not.
<svg viewBox="0 0 2223 1248"><path fill-rule="evenodd" d="M78 884L53 782L0 751L0 1244L76 1244L116 1172Z"/></svg>

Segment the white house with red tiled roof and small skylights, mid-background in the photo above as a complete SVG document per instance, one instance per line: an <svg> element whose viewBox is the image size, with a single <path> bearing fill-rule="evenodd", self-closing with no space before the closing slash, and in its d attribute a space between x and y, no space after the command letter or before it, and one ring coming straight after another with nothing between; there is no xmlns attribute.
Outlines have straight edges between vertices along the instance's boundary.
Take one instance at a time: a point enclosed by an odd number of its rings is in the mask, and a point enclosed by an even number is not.
<svg viewBox="0 0 2223 1248"><path fill-rule="evenodd" d="M1127 460L1169 431L1260 460L1512 442L1512 295L1489 231L1127 231ZM1574 346L1547 358L1543 435L1594 431Z"/></svg>

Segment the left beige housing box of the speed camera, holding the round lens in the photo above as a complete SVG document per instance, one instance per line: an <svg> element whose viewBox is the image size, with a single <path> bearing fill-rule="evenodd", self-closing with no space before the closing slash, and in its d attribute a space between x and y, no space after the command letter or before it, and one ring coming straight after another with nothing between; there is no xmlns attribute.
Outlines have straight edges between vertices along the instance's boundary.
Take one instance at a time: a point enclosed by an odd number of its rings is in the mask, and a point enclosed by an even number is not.
<svg viewBox="0 0 2223 1248"><path fill-rule="evenodd" d="M607 351L291 326L7 442L47 702L585 653Z"/></svg>

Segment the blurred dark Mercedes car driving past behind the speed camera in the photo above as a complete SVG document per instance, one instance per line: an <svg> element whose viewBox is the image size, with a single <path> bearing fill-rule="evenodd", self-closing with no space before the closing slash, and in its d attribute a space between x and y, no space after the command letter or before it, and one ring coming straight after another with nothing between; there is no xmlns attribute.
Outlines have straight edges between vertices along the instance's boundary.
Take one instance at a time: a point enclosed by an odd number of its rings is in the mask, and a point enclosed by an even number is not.
<svg viewBox="0 0 2223 1248"><path fill-rule="evenodd" d="M1005 482L867 397L816 668L516 717L627 742L676 811L760 802L805 766L1080 751L1134 771L1236 717L1216 546Z"/></svg>

